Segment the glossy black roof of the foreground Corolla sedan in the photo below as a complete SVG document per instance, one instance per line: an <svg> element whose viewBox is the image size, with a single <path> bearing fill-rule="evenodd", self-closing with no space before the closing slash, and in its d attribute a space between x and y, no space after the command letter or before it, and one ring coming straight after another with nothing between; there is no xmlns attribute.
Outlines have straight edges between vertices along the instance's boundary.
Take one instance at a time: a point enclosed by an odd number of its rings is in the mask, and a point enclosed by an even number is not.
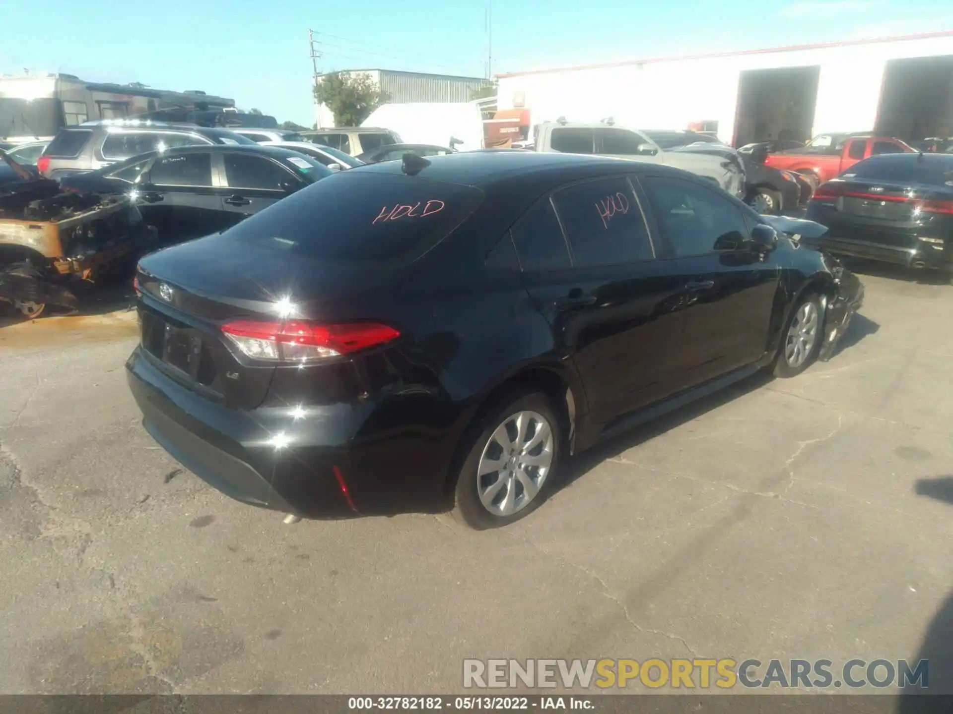
<svg viewBox="0 0 953 714"><path fill-rule="evenodd" d="M554 180L565 181L601 174L636 173L646 169L674 176L686 174L680 169L631 159L519 149L460 151L444 156L428 156L425 161L429 162L429 166L418 172L417 175L421 177L480 188L505 184L528 174L551 173ZM403 172L403 162L387 161L351 170L397 174Z"/></svg>

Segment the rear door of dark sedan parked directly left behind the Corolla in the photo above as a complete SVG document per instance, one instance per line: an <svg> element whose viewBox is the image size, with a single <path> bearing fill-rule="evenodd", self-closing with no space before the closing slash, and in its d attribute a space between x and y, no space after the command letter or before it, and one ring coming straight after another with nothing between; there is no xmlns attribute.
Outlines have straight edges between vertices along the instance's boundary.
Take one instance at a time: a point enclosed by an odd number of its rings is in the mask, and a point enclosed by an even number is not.
<svg viewBox="0 0 953 714"><path fill-rule="evenodd" d="M166 242L208 235L223 228L228 218L214 186L210 152L159 156L140 183L155 187L142 192L140 209Z"/></svg>

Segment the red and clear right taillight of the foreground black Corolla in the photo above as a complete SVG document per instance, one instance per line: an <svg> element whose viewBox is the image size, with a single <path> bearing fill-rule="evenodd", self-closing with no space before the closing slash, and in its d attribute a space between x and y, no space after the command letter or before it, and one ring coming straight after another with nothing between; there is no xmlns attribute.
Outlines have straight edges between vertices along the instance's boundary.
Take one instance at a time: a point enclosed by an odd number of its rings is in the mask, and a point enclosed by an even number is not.
<svg viewBox="0 0 953 714"><path fill-rule="evenodd" d="M376 347L400 336L377 323L318 325L303 320L234 320L222 332L249 357L272 362L310 362Z"/></svg>

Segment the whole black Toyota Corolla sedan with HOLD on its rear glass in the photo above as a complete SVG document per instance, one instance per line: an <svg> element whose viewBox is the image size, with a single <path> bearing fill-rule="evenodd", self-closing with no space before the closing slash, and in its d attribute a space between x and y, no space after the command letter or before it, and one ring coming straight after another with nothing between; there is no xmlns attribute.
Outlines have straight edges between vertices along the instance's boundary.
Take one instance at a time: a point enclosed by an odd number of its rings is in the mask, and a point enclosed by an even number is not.
<svg viewBox="0 0 953 714"><path fill-rule="evenodd" d="M245 503L502 526L570 454L829 356L862 286L788 237L814 228L596 156L358 167L144 258L129 383Z"/></svg>

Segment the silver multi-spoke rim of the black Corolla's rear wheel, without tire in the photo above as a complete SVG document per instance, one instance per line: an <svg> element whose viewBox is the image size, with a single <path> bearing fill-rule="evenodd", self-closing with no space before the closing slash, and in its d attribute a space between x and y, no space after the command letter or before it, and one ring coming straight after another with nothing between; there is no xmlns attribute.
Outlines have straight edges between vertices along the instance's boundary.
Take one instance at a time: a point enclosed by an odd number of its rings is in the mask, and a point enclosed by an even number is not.
<svg viewBox="0 0 953 714"><path fill-rule="evenodd" d="M490 435L476 466L480 503L496 516L529 506L553 465L553 428L536 411L517 411Z"/></svg>

